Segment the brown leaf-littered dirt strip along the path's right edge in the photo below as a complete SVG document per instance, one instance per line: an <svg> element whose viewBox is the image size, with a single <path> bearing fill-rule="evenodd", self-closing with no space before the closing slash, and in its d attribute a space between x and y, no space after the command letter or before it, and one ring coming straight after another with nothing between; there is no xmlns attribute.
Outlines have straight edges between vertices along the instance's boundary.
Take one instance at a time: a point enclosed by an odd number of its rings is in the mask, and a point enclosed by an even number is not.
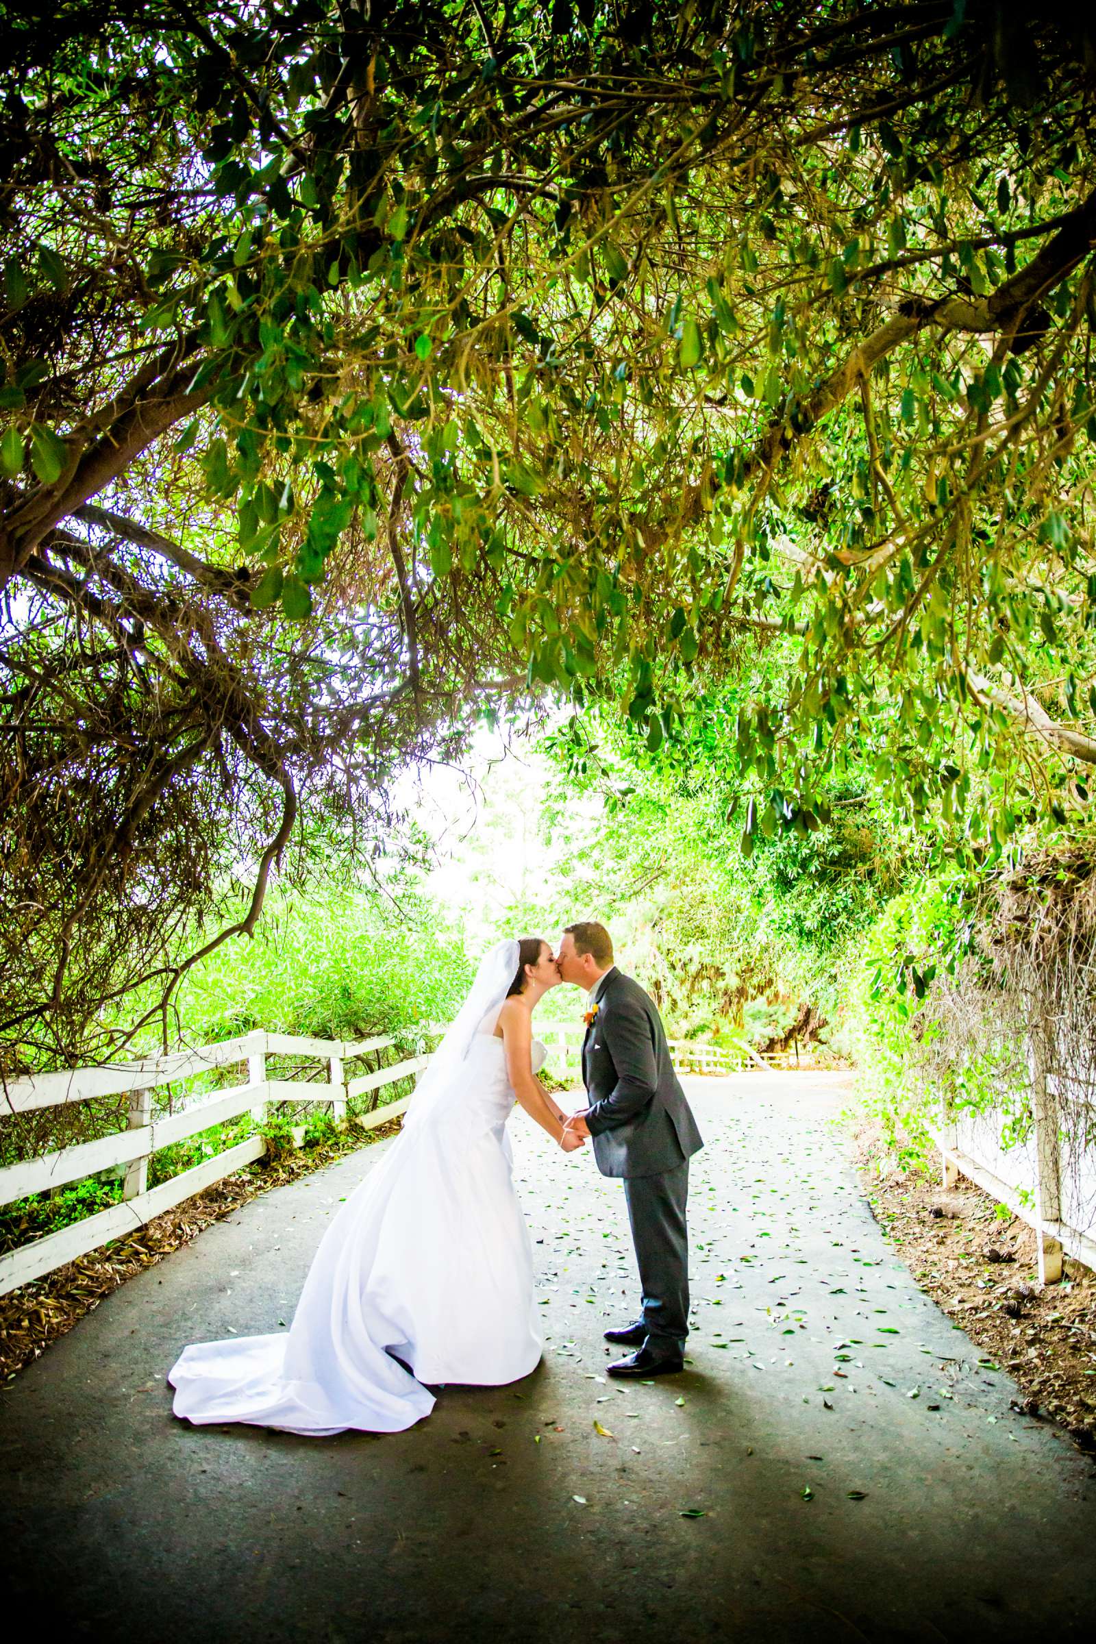
<svg viewBox="0 0 1096 1644"><path fill-rule="evenodd" d="M1096 1274L1065 1263L1040 1286L1035 1235L973 1182L943 1190L938 1177L894 1167L882 1134L856 1134L871 1208L919 1284L961 1323L994 1365L1020 1384L1025 1415L1058 1422L1096 1450Z"/></svg>

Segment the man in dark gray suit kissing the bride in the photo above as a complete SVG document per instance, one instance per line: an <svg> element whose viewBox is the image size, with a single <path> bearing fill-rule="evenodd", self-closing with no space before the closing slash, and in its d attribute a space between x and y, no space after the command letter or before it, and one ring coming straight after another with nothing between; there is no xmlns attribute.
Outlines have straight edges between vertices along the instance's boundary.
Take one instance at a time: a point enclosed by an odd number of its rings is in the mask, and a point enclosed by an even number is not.
<svg viewBox="0 0 1096 1644"><path fill-rule="evenodd" d="M642 1286L642 1318L605 1340L636 1348L610 1376L672 1376L684 1368L688 1335L688 1157L703 1148L677 1082L662 1019L631 977L613 963L600 924L567 926L557 968L585 988L590 1008L582 1077L590 1105L569 1128L593 1138L601 1175L623 1175L631 1238Z"/></svg>

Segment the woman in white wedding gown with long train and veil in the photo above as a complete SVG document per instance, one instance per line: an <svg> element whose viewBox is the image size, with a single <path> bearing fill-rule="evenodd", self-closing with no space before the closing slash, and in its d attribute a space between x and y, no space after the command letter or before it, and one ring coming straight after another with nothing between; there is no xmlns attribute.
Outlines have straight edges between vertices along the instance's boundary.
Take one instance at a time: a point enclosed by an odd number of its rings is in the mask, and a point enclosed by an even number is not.
<svg viewBox="0 0 1096 1644"><path fill-rule="evenodd" d="M424 1383L529 1374L541 1335L506 1120L518 1100L567 1152L582 1146L536 1077L531 1016L559 980L537 937L491 949L403 1131L324 1233L289 1333L187 1346L168 1376L176 1415L399 1432L434 1407Z"/></svg>

